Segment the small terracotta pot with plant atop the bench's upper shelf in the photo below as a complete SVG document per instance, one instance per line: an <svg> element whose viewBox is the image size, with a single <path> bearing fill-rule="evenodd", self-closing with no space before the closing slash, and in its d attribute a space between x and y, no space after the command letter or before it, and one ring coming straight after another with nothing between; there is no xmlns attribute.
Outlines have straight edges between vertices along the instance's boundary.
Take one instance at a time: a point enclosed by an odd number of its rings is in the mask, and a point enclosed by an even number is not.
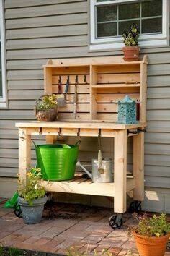
<svg viewBox="0 0 170 256"><path fill-rule="evenodd" d="M124 30L122 34L124 38L125 47L122 48L124 52L123 59L125 61L138 61L139 60L139 51L138 47L138 37L139 37L139 29L137 24L133 24L130 27L129 32L127 33Z"/></svg>

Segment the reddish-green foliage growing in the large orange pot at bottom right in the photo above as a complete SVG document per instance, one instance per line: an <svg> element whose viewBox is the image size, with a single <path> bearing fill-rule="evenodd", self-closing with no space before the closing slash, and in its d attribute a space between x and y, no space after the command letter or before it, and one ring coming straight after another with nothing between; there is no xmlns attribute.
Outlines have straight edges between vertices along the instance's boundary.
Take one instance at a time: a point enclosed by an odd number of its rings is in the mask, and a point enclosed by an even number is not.
<svg viewBox="0 0 170 256"><path fill-rule="evenodd" d="M137 219L138 225L133 226L131 230L139 235L159 237L170 232L170 223L166 220L165 213L161 213L159 216L153 214L152 217L144 214L141 218L134 213L133 216Z"/></svg>

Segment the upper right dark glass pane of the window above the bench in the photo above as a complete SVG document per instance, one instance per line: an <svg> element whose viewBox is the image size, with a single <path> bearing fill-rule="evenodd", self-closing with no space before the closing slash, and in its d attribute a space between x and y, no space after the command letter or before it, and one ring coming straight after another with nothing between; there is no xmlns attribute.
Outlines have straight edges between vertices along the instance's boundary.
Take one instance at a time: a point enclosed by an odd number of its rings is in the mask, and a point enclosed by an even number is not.
<svg viewBox="0 0 170 256"><path fill-rule="evenodd" d="M146 1L142 3L142 17L162 15L162 1Z"/></svg>

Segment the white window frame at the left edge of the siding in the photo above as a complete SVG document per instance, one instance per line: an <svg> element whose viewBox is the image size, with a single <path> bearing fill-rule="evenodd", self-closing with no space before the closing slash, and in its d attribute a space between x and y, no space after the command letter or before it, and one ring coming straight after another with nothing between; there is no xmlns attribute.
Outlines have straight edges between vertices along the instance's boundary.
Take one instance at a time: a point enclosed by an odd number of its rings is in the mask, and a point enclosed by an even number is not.
<svg viewBox="0 0 170 256"><path fill-rule="evenodd" d="M2 77L2 98L0 108L7 107L6 99L6 54L5 54L5 27L4 27L4 1L0 0L0 30L1 30L1 77Z"/></svg>

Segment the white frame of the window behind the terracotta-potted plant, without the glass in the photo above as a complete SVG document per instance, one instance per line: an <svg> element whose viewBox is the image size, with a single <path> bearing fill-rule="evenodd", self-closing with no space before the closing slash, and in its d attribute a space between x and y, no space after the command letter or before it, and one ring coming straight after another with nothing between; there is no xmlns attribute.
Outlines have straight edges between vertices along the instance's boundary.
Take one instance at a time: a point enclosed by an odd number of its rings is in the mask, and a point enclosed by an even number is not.
<svg viewBox="0 0 170 256"><path fill-rule="evenodd" d="M95 6L102 4L119 4L122 2L135 2L138 0L115 0L98 2L90 0L90 51L101 50L120 50L125 44L121 36L112 38L95 38ZM163 17L162 17L162 33L151 35L140 35L138 39L139 46L142 48L147 47L161 47L169 46L169 0L162 0Z"/></svg>

